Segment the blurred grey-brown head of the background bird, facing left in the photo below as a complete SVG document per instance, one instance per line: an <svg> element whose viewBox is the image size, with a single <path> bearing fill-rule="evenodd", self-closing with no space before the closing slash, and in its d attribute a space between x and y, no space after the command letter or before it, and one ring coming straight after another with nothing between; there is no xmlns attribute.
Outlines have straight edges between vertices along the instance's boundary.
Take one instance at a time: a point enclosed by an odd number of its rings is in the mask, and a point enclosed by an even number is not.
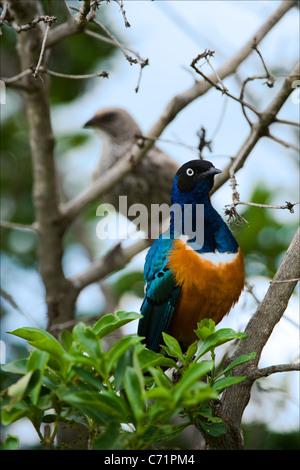
<svg viewBox="0 0 300 470"><path fill-rule="evenodd" d="M125 109L117 107L100 109L85 123L84 127L92 127L105 132L105 134L120 142L141 134L141 130L133 117Z"/></svg>

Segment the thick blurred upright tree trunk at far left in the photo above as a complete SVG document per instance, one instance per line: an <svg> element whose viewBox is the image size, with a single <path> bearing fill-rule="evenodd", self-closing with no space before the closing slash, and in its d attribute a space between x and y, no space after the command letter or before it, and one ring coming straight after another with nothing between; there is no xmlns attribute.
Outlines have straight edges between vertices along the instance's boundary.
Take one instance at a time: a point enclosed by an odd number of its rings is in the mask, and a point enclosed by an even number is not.
<svg viewBox="0 0 300 470"><path fill-rule="evenodd" d="M10 0L10 8L19 24L30 23L36 14L36 1ZM33 28L18 35L22 70L38 63L43 32ZM54 164L54 137L50 120L49 81L26 75L24 100L30 126L33 166L33 202L38 227L40 272L46 289L49 324L73 318L76 289L65 279L62 269L62 224Z"/></svg>

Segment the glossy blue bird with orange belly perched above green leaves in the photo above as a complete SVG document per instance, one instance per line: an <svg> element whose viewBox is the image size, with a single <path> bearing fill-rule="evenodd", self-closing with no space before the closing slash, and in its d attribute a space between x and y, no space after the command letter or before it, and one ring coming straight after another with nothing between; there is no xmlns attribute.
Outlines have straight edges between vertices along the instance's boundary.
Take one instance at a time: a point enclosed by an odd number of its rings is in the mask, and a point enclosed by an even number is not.
<svg viewBox="0 0 300 470"><path fill-rule="evenodd" d="M243 253L210 201L214 176L221 173L206 160L192 160L177 171L171 208L190 210L175 223L171 211L167 234L155 240L144 267L145 298L138 334L148 349L159 351L162 333L174 336L183 349L197 339L197 322L211 318L218 324L238 301L245 282ZM197 205L202 205L201 243L195 239ZM178 206L179 205L179 206ZM178 218L177 218L178 220ZM180 233L181 232L181 233Z"/></svg>

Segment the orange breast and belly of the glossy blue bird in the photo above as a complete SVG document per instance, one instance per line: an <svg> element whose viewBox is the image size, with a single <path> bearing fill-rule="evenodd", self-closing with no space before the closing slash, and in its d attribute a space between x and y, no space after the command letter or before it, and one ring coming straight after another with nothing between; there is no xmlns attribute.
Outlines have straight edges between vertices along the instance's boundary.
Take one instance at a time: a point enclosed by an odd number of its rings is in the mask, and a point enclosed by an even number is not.
<svg viewBox="0 0 300 470"><path fill-rule="evenodd" d="M197 322L212 318L219 323L240 297L245 283L243 253L239 248L236 256L223 258L224 262L210 261L182 240L174 241L169 267L182 291L168 333L183 344L195 341Z"/></svg>

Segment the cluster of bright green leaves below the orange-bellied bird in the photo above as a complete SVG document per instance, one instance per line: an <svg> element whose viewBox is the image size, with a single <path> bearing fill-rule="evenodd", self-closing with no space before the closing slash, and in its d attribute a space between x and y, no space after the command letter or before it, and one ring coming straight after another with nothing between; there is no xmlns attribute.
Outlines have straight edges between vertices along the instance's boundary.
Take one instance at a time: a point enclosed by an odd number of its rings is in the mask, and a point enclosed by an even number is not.
<svg viewBox="0 0 300 470"><path fill-rule="evenodd" d="M72 333L62 332L61 342L38 328L14 330L12 334L26 339L33 349L27 358L2 368L2 374L14 379L2 391L2 423L28 418L46 448L53 447L60 423L85 426L93 449L147 449L196 423L214 436L225 433L208 403L243 380L231 376L232 369L253 354L238 358L215 376L214 350L245 335L215 331L212 320L204 320L196 331L201 338L198 353L197 341L183 354L178 341L167 334L167 356L146 349L136 335L124 336L104 351L103 338L139 317L135 312L117 312L93 326L78 323ZM212 360L198 361L207 352ZM167 368L175 369L176 379L165 373ZM185 421L173 424L179 415ZM47 438L42 433L44 423L53 424ZM3 448L15 448L17 443L17 438L8 436Z"/></svg>

